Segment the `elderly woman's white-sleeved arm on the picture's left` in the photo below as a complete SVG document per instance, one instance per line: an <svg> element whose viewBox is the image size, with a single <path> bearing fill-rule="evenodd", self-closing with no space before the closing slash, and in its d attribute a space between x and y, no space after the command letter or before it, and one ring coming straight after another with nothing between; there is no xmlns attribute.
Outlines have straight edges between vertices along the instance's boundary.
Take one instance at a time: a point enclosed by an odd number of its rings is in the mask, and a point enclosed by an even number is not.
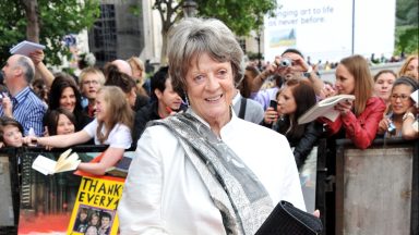
<svg viewBox="0 0 419 235"><path fill-rule="evenodd" d="M158 139L158 138L157 138ZM158 149L161 145L145 129L132 160L118 215L122 234L166 234L161 209L164 164Z"/></svg>

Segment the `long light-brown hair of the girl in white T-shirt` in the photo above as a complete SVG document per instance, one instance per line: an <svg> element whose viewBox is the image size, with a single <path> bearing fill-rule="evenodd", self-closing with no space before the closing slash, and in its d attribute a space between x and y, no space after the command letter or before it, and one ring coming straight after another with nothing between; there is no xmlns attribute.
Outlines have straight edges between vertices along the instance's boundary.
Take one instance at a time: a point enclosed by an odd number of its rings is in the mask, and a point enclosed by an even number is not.
<svg viewBox="0 0 419 235"><path fill-rule="evenodd" d="M96 129L97 139L100 144L104 144L117 124L124 124L132 129L134 113L121 88L117 86L104 86L97 94L104 96L107 114L109 115L106 124L103 121L98 121ZM106 126L105 135L100 132L104 125Z"/></svg>

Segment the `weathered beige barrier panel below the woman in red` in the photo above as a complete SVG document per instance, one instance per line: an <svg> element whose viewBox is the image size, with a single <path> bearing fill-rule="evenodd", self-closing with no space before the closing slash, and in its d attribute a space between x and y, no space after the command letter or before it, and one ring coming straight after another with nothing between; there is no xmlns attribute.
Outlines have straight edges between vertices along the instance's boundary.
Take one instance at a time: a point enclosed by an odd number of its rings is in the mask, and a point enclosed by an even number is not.
<svg viewBox="0 0 419 235"><path fill-rule="evenodd" d="M334 234L419 234L418 141L336 141Z"/></svg>

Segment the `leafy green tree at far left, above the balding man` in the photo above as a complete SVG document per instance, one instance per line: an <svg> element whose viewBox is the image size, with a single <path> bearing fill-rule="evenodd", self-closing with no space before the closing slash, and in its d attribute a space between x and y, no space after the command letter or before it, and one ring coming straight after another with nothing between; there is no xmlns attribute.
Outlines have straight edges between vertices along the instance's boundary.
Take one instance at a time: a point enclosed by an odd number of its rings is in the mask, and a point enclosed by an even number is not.
<svg viewBox="0 0 419 235"><path fill-rule="evenodd" d="M0 0L0 61L13 45L32 40L47 46L46 62L59 65L59 54L69 55L63 36L87 29L99 14L99 0Z"/></svg>

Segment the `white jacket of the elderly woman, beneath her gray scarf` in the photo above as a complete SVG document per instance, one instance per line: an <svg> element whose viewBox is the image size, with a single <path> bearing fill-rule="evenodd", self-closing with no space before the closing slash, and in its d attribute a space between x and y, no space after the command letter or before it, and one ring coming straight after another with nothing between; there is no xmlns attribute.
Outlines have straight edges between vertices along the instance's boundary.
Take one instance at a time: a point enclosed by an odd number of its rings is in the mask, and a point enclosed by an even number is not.
<svg viewBox="0 0 419 235"><path fill-rule="evenodd" d="M283 135L232 115L220 136L255 173L274 205L283 199L306 210L294 154ZM164 126L151 126L141 136L118 213L121 235L225 234L203 181Z"/></svg>

